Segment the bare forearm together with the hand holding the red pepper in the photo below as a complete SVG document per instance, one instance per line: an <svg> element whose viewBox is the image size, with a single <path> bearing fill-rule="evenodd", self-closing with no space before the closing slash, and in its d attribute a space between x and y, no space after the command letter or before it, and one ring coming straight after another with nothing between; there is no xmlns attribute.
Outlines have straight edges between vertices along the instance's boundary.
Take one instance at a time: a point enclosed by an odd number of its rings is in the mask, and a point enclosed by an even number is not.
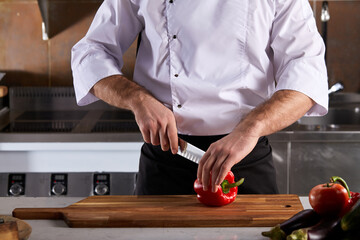
<svg viewBox="0 0 360 240"><path fill-rule="evenodd" d="M303 93L282 90L253 109L235 129L210 145L199 162L198 179L208 183L211 175L212 191L218 189L232 166L247 156L261 136L279 131L302 117L314 101ZM204 190L208 187L204 185Z"/></svg>

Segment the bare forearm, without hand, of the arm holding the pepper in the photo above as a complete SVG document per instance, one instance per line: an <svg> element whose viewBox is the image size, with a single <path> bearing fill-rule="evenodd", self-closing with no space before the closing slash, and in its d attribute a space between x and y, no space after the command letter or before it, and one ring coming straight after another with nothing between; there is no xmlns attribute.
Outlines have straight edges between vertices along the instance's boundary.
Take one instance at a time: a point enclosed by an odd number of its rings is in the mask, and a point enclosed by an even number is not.
<svg viewBox="0 0 360 240"><path fill-rule="evenodd" d="M235 131L249 136L266 136L293 124L313 105L314 101L301 92L281 90L253 109Z"/></svg>

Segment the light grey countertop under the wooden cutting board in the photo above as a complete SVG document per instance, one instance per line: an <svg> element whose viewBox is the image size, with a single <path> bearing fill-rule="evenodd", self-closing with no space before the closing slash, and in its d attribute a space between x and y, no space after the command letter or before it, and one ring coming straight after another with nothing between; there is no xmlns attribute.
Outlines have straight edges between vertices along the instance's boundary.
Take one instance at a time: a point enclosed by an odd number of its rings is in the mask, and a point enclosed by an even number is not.
<svg viewBox="0 0 360 240"><path fill-rule="evenodd" d="M0 215L11 215L22 207L66 207L83 198L74 197L1 197ZM310 208L308 198L300 197L304 209ZM175 240L257 240L267 239L261 232L270 229L253 228L69 228L62 220L25 220L32 227L30 240L63 239L175 239Z"/></svg>

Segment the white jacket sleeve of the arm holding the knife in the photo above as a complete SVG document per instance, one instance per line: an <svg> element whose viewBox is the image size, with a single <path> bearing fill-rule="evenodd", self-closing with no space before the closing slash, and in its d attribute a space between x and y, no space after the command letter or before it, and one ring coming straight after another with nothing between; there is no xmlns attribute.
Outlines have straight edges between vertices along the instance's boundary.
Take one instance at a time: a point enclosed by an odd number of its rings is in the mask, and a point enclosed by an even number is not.
<svg viewBox="0 0 360 240"><path fill-rule="evenodd" d="M71 51L71 68L78 105L98 100L89 91L99 80L122 74L123 53L142 30L131 0L105 0L83 39Z"/></svg>

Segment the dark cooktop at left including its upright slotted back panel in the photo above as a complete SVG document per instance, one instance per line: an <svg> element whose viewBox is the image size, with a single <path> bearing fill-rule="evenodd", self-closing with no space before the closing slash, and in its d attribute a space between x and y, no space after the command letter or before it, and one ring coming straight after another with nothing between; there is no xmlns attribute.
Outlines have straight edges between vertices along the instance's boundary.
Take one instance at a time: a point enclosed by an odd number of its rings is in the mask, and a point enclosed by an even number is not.
<svg viewBox="0 0 360 240"><path fill-rule="evenodd" d="M78 106L68 87L9 88L9 108L1 111L0 132L140 132L132 112L97 101Z"/></svg>

